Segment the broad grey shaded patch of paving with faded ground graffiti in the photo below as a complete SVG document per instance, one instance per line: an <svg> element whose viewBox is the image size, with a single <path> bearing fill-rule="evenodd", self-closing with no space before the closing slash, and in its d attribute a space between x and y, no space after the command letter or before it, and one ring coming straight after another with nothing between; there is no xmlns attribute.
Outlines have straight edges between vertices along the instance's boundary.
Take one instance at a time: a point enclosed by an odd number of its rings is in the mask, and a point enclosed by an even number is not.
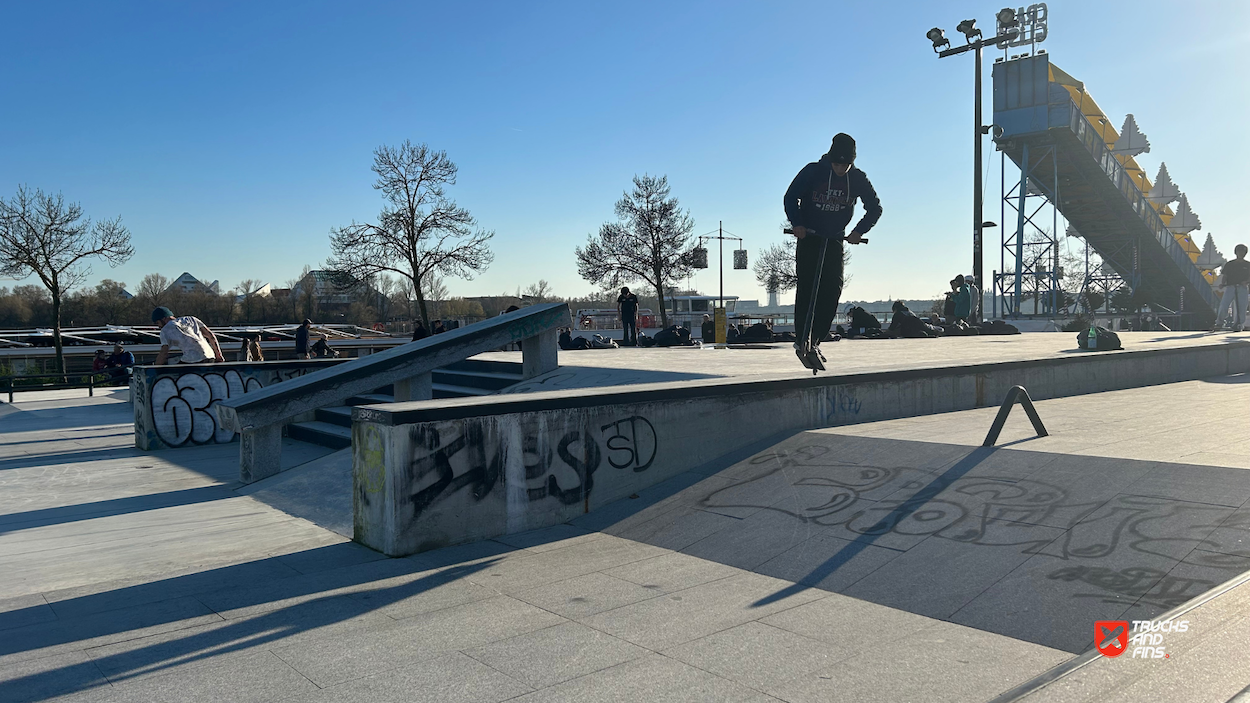
<svg viewBox="0 0 1250 703"><path fill-rule="evenodd" d="M574 525L1068 652L1250 570L1250 473L809 432Z"/></svg>

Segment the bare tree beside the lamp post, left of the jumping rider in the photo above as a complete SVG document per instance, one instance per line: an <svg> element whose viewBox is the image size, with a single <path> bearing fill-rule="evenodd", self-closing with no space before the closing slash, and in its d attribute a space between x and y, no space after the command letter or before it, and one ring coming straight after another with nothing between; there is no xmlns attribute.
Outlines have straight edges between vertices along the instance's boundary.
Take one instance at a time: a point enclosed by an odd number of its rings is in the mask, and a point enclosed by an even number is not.
<svg viewBox="0 0 1250 703"><path fill-rule="evenodd" d="M588 281L616 286L642 280L654 288L665 328L666 284L690 271L690 233L695 229L690 213L681 210L670 193L668 176L634 176L634 191L616 201L618 221L605 223L598 236L588 236L586 246L576 249L578 273Z"/></svg>

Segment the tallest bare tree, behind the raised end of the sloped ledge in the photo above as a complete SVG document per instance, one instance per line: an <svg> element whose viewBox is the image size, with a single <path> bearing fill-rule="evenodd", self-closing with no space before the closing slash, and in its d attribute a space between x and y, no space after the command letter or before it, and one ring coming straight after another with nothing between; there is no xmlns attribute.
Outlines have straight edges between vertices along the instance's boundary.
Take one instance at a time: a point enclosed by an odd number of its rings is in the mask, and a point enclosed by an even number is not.
<svg viewBox="0 0 1250 703"><path fill-rule="evenodd" d="M404 141L374 150L374 188L386 201L378 224L330 230L329 265L355 278L390 271L406 278L426 325L425 279L431 274L471 279L494 259L494 231L478 229L469 210L448 198L456 165L445 151Z"/></svg>

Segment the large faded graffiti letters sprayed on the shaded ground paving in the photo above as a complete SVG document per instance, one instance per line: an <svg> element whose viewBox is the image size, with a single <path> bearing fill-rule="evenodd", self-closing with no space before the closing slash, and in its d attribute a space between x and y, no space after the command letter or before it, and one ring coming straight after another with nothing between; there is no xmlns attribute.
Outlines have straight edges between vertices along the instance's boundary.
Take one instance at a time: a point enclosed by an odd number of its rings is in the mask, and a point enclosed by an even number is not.
<svg viewBox="0 0 1250 703"><path fill-rule="evenodd" d="M1239 544L1250 528L1250 518L1239 523L1226 507L1131 494L1075 499L1061 485L1032 478L869 462L889 459L842 458L819 444L774 450L754 457L739 480L716 488L699 504L712 512L769 510L849 540L922 535L1012 548L1036 555L1039 563L1061 562L1046 578L1089 587L1074 598L1114 604L1129 599L1171 608L1220 580L1209 574L1240 573L1250 563L1241 552L1212 550ZM760 495L771 500L761 503ZM1216 528L1238 537L1212 537ZM1120 563L1109 564L1110 559ZM1140 564L1125 567L1129 559ZM1208 569L1180 573L1158 567L1176 560Z"/></svg>

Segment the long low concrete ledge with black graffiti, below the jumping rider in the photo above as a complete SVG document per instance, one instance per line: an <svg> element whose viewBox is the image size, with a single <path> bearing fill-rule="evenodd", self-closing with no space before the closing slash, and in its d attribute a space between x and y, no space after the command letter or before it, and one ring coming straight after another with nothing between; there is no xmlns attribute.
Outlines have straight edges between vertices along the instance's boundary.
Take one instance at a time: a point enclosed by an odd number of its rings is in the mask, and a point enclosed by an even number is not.
<svg viewBox="0 0 1250 703"><path fill-rule="evenodd" d="M358 408L355 539L402 555L558 524L782 433L998 405L1012 385L1046 399L1248 370L1236 343Z"/></svg>

